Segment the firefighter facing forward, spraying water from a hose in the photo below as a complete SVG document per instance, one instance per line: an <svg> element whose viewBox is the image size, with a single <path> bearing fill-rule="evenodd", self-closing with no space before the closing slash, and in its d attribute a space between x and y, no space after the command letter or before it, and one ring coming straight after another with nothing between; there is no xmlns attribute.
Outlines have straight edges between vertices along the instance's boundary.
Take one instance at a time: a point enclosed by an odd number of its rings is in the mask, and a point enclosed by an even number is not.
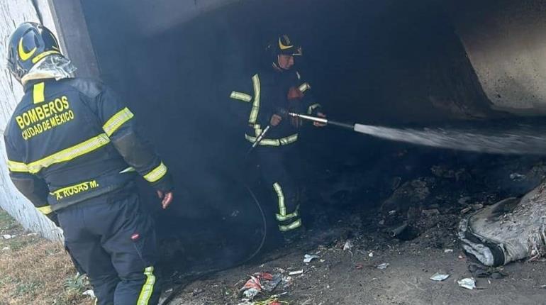
<svg viewBox="0 0 546 305"><path fill-rule="evenodd" d="M280 35L266 51L267 64L252 76L245 87L232 91L230 98L250 106L245 133L248 142L255 143L267 129L255 149L257 168L276 202L275 218L279 231L285 240L291 241L299 235L302 226L294 144L298 140L301 121L288 118L286 113L324 115L320 112L321 105L313 102L311 85L293 69L294 58L303 55L301 47L294 44L288 35Z"/></svg>

